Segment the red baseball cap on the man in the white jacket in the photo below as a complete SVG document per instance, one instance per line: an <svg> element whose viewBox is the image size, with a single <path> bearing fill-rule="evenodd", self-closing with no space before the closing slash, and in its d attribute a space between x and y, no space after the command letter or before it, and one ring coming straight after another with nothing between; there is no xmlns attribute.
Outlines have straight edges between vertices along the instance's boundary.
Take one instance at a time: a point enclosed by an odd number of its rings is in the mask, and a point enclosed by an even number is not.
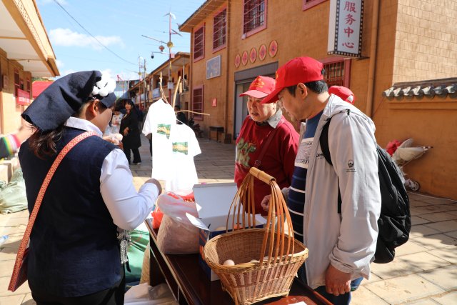
<svg viewBox="0 0 457 305"><path fill-rule="evenodd" d="M276 71L275 89L263 99L262 104L277 101L279 92L288 86L323 80L322 69L323 64L311 57L297 57L288 61Z"/></svg>

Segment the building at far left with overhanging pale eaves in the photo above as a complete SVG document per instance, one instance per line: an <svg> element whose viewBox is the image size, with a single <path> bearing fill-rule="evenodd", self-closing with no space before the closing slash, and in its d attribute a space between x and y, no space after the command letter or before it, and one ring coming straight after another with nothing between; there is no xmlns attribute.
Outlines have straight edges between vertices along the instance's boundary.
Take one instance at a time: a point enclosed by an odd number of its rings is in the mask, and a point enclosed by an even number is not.
<svg viewBox="0 0 457 305"><path fill-rule="evenodd" d="M36 2L0 1L0 134L21 126L32 77L59 76Z"/></svg>

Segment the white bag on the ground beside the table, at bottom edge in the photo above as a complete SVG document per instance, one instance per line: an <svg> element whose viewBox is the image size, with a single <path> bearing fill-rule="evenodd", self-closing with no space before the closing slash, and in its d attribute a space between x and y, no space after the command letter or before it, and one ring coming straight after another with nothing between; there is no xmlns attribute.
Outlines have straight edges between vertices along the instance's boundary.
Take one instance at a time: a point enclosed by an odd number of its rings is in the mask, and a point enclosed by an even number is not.
<svg viewBox="0 0 457 305"><path fill-rule="evenodd" d="M178 305L166 284L151 287L147 283L131 287L124 295L124 305Z"/></svg>

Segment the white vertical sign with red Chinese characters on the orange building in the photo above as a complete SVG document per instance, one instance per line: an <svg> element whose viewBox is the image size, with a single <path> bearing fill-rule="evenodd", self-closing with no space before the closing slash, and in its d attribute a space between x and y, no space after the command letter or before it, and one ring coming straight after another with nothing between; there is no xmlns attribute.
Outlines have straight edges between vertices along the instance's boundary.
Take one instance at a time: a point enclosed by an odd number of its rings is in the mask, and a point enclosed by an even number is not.
<svg viewBox="0 0 457 305"><path fill-rule="evenodd" d="M328 54L361 56L363 0L331 0Z"/></svg>

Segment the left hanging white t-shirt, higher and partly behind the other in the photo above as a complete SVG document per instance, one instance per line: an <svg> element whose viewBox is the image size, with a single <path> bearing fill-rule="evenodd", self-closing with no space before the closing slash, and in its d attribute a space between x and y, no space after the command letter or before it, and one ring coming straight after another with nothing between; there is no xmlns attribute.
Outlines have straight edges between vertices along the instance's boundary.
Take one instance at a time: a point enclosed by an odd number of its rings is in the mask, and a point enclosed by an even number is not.
<svg viewBox="0 0 457 305"><path fill-rule="evenodd" d="M152 137L152 174L155 179L170 179L171 161L171 126L176 125L174 109L163 99L149 107L144 120L143 134Z"/></svg>

